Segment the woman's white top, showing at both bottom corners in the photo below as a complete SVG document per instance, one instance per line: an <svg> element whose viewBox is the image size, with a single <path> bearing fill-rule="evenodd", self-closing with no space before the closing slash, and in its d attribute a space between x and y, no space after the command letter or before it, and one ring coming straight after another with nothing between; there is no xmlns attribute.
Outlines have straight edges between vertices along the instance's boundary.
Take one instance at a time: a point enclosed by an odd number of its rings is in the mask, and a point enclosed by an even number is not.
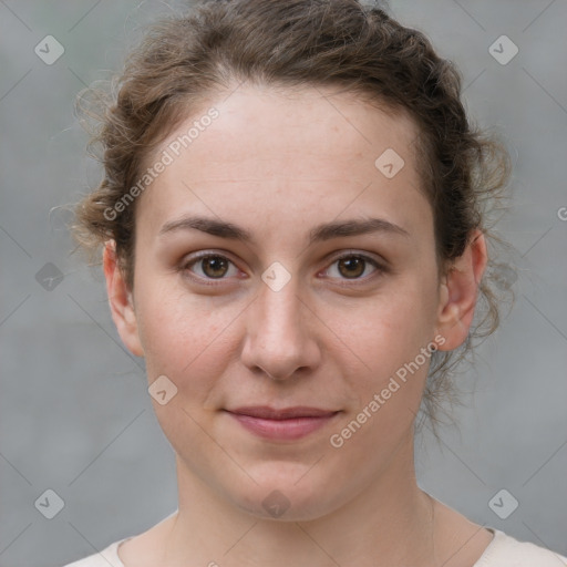
<svg viewBox="0 0 567 567"><path fill-rule="evenodd" d="M518 542L499 529L487 529L494 534L494 538L473 567L567 567L567 557L563 555L527 542ZM124 567L118 557L118 546L128 539L132 537L114 542L101 553L64 567Z"/></svg>

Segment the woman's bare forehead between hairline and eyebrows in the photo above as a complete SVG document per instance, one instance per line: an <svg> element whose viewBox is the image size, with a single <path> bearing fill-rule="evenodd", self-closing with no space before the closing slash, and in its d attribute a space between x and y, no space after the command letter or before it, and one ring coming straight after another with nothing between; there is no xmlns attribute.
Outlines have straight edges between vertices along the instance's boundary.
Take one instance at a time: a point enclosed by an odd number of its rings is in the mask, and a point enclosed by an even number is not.
<svg viewBox="0 0 567 567"><path fill-rule="evenodd" d="M405 113L352 93L241 85L210 97L161 144L153 161L167 153L172 163L144 193L142 215L155 234L184 207L287 221L300 212L336 217L349 204L351 213L380 204L411 223L410 209L427 206L416 135ZM392 168L394 176L384 175Z"/></svg>

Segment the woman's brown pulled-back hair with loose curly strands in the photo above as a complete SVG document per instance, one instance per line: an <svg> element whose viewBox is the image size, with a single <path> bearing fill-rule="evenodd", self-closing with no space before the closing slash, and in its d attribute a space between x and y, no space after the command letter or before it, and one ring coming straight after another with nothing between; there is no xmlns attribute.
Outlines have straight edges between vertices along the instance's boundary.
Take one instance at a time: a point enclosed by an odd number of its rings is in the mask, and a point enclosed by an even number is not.
<svg viewBox="0 0 567 567"><path fill-rule="evenodd" d="M461 101L458 71L435 53L423 33L357 0L209 0L152 25L114 81L114 92L102 100L102 112L94 113L99 130L91 145L102 148L104 176L76 207L73 231L92 251L113 239L131 289L135 203L113 219L104 212L114 209L136 184L157 144L207 94L235 81L340 86L409 113L421 133L415 144L422 190L434 216L440 270L451 269L475 228L483 230L489 248L494 243L507 246L491 231L487 205L504 196L508 155L494 136L472 126ZM103 93L87 92L101 102ZM79 99L80 111L85 100ZM506 269L509 274L512 268ZM434 432L435 410L455 400L451 374L456 363L472 352L473 339L498 326L494 284L512 292L509 277L502 285L497 270L491 254L465 343L432 357L422 410Z"/></svg>

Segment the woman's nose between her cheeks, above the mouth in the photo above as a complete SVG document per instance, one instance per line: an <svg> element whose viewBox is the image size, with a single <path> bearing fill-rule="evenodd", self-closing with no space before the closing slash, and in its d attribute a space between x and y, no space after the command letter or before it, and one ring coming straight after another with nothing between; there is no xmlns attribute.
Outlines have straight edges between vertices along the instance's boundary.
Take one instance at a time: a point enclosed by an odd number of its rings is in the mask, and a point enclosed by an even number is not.
<svg viewBox="0 0 567 567"><path fill-rule="evenodd" d="M241 360L252 372L281 381L317 368L321 358L318 319L298 296L295 278L279 291L262 286L246 311Z"/></svg>

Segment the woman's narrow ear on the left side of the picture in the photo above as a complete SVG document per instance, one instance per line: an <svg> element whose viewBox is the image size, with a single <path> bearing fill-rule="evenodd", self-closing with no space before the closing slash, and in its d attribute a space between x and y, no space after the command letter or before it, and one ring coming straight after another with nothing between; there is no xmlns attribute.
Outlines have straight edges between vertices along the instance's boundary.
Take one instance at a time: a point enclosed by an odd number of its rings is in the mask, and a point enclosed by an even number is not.
<svg viewBox="0 0 567 567"><path fill-rule="evenodd" d="M114 240L104 245L103 268L106 279L106 293L112 319L126 348L136 357L144 355L140 340L134 301L116 258Z"/></svg>

